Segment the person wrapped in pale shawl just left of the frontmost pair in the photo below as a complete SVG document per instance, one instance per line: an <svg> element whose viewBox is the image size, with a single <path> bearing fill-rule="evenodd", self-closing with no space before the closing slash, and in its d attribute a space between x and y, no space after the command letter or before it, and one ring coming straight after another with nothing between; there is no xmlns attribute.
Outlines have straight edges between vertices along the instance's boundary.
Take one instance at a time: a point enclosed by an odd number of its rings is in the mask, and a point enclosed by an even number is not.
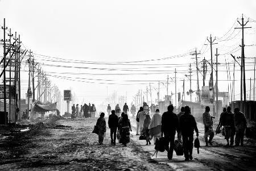
<svg viewBox="0 0 256 171"><path fill-rule="evenodd" d="M152 116L150 120L150 125L148 129L150 129L150 135L153 137L154 144L156 138L161 137L161 125L162 125L162 114L160 114L159 109L156 109L155 114Z"/></svg>

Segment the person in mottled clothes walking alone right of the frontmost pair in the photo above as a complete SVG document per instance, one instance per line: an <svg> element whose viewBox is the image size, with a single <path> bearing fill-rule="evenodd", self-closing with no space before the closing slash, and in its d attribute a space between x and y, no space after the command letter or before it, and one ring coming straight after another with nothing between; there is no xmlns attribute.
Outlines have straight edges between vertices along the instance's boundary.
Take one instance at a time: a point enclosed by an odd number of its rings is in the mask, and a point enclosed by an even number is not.
<svg viewBox="0 0 256 171"><path fill-rule="evenodd" d="M214 131L212 128L212 125L213 125L212 116L210 116L209 111L210 111L210 107L207 106L205 107L205 112L203 114L204 140L205 140L206 146L208 146L208 143L212 145L212 139L214 136ZM210 136L209 141L208 141L208 136Z"/></svg>

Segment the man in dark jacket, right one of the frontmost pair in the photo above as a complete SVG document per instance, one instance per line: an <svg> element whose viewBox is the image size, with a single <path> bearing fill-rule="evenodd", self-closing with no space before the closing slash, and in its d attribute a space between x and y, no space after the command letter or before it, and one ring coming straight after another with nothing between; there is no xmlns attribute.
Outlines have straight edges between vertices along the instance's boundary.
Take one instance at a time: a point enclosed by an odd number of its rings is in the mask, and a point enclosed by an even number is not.
<svg viewBox="0 0 256 171"><path fill-rule="evenodd" d="M194 130L196 131L196 136L199 136L199 131L197 129L196 120L193 115L190 114L190 109L185 106L185 113L180 116L180 131L182 134L183 148L185 161L193 159L193 136Z"/></svg>

